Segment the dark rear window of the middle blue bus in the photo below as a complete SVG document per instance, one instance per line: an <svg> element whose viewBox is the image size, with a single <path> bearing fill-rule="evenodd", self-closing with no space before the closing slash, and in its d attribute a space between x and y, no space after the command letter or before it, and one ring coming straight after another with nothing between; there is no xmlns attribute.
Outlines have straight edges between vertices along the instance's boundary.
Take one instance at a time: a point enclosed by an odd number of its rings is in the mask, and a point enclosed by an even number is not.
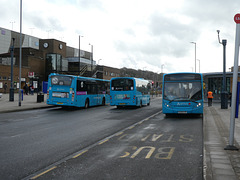
<svg viewBox="0 0 240 180"><path fill-rule="evenodd" d="M132 79L114 79L111 85L113 91L131 91L134 89Z"/></svg>

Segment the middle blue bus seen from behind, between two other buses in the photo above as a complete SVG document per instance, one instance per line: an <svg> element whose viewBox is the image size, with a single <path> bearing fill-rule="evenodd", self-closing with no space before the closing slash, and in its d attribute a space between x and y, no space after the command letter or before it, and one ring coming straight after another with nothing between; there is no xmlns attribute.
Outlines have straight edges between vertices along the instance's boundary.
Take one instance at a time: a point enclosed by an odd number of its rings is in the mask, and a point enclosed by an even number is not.
<svg viewBox="0 0 240 180"><path fill-rule="evenodd" d="M116 77L110 81L110 105L150 105L151 85L148 80L133 77Z"/></svg>

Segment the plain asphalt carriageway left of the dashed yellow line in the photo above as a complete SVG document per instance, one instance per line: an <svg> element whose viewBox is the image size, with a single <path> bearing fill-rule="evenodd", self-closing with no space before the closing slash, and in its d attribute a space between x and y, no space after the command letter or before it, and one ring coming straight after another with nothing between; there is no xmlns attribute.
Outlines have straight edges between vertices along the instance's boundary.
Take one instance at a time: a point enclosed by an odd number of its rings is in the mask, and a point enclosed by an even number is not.
<svg viewBox="0 0 240 180"><path fill-rule="evenodd" d="M99 106L0 114L0 179L23 179L161 109Z"/></svg>

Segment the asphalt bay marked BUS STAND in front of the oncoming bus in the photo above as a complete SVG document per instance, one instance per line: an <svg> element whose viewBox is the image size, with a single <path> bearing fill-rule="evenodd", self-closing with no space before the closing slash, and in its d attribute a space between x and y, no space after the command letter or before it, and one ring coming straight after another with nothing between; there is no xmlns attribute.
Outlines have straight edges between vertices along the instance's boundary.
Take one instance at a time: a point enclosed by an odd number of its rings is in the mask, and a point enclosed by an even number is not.
<svg viewBox="0 0 240 180"><path fill-rule="evenodd" d="M39 179L201 180L202 118L158 113L35 174ZM41 174L42 173L42 174Z"/></svg>

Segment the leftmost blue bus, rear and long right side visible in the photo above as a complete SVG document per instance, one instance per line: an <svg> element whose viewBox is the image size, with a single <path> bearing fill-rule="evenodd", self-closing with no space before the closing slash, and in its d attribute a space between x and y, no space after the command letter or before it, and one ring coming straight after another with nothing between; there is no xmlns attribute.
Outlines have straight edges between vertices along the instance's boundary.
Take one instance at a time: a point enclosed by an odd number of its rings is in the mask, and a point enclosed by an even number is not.
<svg viewBox="0 0 240 180"><path fill-rule="evenodd" d="M52 73L48 78L47 104L85 107L109 104L110 81Z"/></svg>

